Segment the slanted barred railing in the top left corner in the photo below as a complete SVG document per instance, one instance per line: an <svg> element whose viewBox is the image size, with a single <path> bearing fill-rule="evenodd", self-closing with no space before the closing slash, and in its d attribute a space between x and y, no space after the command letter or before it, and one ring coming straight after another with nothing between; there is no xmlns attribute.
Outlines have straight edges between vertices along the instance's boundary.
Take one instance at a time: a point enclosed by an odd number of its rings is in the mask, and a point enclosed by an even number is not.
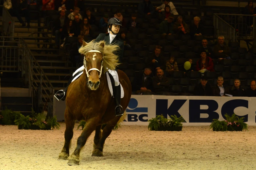
<svg viewBox="0 0 256 170"><path fill-rule="evenodd" d="M3 33L4 36L13 37L14 34L14 20L5 7L3 7Z"/></svg>

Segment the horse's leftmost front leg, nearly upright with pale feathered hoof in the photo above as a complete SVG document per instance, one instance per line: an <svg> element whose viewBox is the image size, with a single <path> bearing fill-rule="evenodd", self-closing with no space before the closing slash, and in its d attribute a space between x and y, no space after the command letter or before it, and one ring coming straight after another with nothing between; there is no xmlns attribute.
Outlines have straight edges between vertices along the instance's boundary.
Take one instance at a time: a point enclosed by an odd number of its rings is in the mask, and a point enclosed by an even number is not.
<svg viewBox="0 0 256 170"><path fill-rule="evenodd" d="M73 137L73 129L75 125L75 120L70 119L69 113L67 109L65 110L65 122L66 122L66 129L65 129L65 142L63 149L61 150L61 153L59 155L59 159L67 160L69 157L69 148L71 144L71 139Z"/></svg>

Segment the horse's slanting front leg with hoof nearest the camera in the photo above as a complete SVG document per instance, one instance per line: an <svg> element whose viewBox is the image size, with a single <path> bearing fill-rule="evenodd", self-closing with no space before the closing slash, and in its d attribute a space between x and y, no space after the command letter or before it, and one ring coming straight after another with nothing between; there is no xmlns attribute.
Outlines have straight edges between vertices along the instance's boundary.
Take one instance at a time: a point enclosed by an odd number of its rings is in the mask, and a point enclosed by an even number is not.
<svg viewBox="0 0 256 170"><path fill-rule="evenodd" d="M77 138L77 147L75 151L68 157L68 165L79 165L80 151L86 143L87 138L95 130L99 118L92 118L86 121L82 134Z"/></svg>

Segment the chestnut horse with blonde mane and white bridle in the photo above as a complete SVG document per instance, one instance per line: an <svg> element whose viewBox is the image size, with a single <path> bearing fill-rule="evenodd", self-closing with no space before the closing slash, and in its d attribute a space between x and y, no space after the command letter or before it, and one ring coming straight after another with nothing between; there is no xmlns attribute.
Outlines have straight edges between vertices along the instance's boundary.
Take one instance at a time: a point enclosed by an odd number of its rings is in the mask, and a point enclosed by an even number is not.
<svg viewBox="0 0 256 170"><path fill-rule="evenodd" d="M78 50L84 54L83 74L68 87L66 109L64 113L66 129L65 142L59 159L68 160L68 165L79 165L79 154L87 138L95 130L94 150L92 156L103 156L103 146L111 134L119 117L115 116L115 101L107 82L107 70L118 66L117 45L106 45L105 41L83 42ZM121 106L125 110L131 98L131 83L127 75L117 70L119 82L124 89ZM102 75L101 75L102 74ZM125 115L125 114L124 114ZM75 120L85 120L86 124L77 138L77 147L69 155L70 141L73 137ZM101 130L102 124L106 126Z"/></svg>

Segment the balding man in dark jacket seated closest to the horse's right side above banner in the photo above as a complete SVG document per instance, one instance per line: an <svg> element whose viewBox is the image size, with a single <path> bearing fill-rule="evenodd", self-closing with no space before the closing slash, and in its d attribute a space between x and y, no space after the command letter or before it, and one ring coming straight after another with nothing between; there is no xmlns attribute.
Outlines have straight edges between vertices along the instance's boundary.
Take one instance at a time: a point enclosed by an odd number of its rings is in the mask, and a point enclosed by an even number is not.
<svg viewBox="0 0 256 170"><path fill-rule="evenodd" d="M142 93L153 90L151 72L151 68L146 67L143 73L136 74L132 83L133 92Z"/></svg>

